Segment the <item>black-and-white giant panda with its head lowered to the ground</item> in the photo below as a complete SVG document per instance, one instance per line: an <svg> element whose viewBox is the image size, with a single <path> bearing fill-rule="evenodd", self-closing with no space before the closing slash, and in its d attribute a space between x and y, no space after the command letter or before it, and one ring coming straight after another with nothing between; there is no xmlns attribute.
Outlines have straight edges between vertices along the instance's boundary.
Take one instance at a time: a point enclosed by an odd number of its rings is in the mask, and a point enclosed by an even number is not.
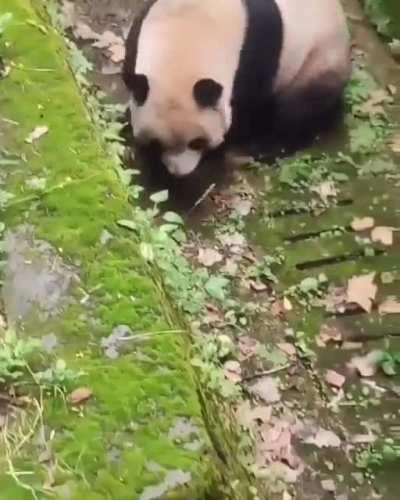
<svg viewBox="0 0 400 500"><path fill-rule="evenodd" d="M186 176L223 145L323 122L350 68L340 0L147 0L123 65L135 144Z"/></svg>

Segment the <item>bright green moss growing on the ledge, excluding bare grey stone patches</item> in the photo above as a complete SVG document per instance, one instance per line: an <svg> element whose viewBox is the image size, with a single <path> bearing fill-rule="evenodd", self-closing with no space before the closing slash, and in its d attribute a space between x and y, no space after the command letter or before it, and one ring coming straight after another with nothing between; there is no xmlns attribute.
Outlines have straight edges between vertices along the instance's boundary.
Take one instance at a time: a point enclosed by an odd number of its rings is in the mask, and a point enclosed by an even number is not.
<svg viewBox="0 0 400 500"><path fill-rule="evenodd" d="M0 82L0 108L15 123L4 134L7 149L21 162L7 171L5 187L15 198L6 222L10 228L32 224L36 237L50 242L81 279L74 303L60 316L45 324L32 317L25 327L38 335L56 333L56 355L84 369L80 383L93 389L82 414L60 401L46 403L45 424L55 433L52 449L59 464L56 496L139 498L143 488L164 477L148 469L155 461L166 470L191 473L190 491L183 488L175 498L205 498L219 473L188 368L187 339L179 333L155 334L131 344L116 360L106 358L100 345L120 324L147 332L176 330L180 321L171 311L165 314L168 306L146 273L137 242L116 225L130 214L128 194L90 122L62 40L51 28L46 33L38 28L43 20L28 0L3 0L1 12L8 11L14 18L7 46L0 50L12 70ZM27 144L25 138L39 125L48 133ZM37 196L25 184L34 176L46 179ZM104 230L113 235L107 245L100 242ZM84 293L90 296L88 305L78 300ZM196 423L203 448L189 451L168 438L178 417ZM20 457L24 470L34 472L26 481L37 491L44 476L36 465L39 453L33 446ZM1 472L0 489L1 498L32 498Z"/></svg>

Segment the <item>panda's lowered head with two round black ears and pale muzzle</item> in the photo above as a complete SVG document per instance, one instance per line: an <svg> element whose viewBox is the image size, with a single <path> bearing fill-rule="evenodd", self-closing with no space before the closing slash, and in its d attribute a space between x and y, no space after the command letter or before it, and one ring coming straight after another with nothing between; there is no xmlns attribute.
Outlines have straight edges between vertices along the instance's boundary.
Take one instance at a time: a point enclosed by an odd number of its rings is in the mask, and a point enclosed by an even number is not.
<svg viewBox="0 0 400 500"><path fill-rule="evenodd" d="M132 93L133 135L139 147L159 151L175 176L190 174L203 155L224 141L230 107L223 86L212 78L179 82L134 74L126 82Z"/></svg>

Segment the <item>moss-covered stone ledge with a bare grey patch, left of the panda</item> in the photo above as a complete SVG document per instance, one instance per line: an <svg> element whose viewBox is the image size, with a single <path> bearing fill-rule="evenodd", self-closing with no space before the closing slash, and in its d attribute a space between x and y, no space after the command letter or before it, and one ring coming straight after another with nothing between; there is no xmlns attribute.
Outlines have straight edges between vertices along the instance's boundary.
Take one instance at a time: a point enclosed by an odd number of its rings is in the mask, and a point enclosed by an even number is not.
<svg viewBox="0 0 400 500"><path fill-rule="evenodd" d="M13 19L0 50L11 70L0 80L0 145L18 161L0 174L1 189L13 195L1 212L5 313L21 335L51 335L55 358L83 370L79 386L93 391L81 411L46 400L43 428L57 464L50 492L73 500L220 498L188 338L138 242L117 225L130 217L128 192L91 122L63 39L30 0L2 0L0 15L6 12ZM37 127L47 132L27 142ZM105 352L126 332L153 335ZM32 498L32 491L47 497L38 442L13 463L33 490L7 474L0 450L1 500Z"/></svg>

